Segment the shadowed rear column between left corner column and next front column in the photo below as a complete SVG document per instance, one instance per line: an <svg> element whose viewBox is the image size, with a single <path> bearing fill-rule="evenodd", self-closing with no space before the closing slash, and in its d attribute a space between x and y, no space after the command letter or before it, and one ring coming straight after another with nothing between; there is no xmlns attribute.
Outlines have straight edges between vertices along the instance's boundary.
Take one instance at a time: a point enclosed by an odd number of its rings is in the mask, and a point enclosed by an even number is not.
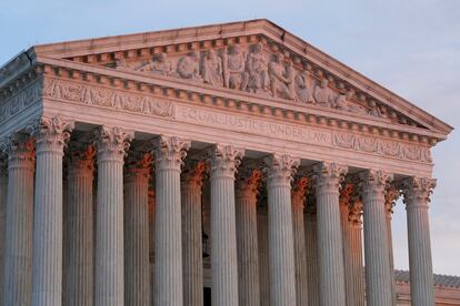
<svg viewBox="0 0 460 306"><path fill-rule="evenodd" d="M71 145L68 156L63 305L93 304L93 146Z"/></svg>

